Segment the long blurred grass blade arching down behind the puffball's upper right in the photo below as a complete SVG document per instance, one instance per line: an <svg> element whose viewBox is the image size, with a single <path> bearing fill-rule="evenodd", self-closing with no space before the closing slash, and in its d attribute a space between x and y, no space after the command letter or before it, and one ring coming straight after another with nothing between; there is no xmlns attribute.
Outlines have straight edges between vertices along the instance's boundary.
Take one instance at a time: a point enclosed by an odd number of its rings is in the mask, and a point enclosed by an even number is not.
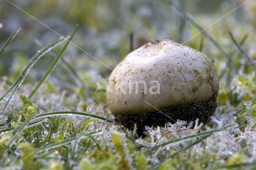
<svg viewBox="0 0 256 170"><path fill-rule="evenodd" d="M196 22L194 22L194 20L192 20L192 18L190 18L184 11L180 10L180 8L178 8L176 5L172 4L170 7L175 10L182 18L184 18L186 21L196 27L196 29L198 29L200 33L202 33L218 49L218 51L220 51L222 56L226 59L228 67L232 71L236 71L236 67L232 63L231 59L228 57L222 47L220 47L220 45L216 41L214 41L209 34L207 34Z"/></svg>

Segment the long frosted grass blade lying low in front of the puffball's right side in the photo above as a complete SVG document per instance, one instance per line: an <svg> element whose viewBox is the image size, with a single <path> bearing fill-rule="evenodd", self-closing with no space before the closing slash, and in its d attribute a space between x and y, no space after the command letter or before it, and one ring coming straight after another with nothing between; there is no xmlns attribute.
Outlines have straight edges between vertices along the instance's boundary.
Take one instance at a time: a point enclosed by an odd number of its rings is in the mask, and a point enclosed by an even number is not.
<svg viewBox="0 0 256 170"><path fill-rule="evenodd" d="M198 134L192 134L190 136L185 136L185 137L182 137L182 138L177 138L177 139L174 139L174 140L171 140L171 141L168 141L168 142L164 142L162 144L159 144L159 145L156 145L152 148L149 148L148 150L146 150L146 152L152 152L153 150L157 150L160 146L163 147L163 146L166 146L170 143L173 143L173 142L178 142L180 140L185 140L185 139L188 139L188 138L194 138L194 137L197 137L197 136L200 136L200 135L204 135L204 134L212 134L214 132L219 132L219 131L222 131L222 130L226 130L226 128L229 128L229 127L234 127L236 125L228 125L226 127L222 127L222 128L218 128L216 130L212 130L212 131L207 131L207 132L201 132L201 133L198 133Z"/></svg>

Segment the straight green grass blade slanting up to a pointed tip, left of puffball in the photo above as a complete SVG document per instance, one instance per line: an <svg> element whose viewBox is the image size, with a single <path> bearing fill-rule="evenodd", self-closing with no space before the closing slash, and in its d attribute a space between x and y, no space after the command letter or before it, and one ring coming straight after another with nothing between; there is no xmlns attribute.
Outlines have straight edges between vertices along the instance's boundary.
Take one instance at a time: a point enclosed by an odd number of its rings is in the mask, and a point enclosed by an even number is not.
<svg viewBox="0 0 256 170"><path fill-rule="evenodd" d="M52 65L50 65L49 69L47 70L46 74L44 75L44 77L41 79L41 81L38 83L38 85L36 86L36 88L32 91L32 93L29 95L29 98L31 98L36 91L38 90L38 88L42 85L42 83L44 83L44 81L49 77L49 75L52 73L53 69L55 68L56 64L58 63L60 57L62 56L62 54L64 53L64 51L66 50L66 48L68 47L68 44L70 43L70 41L72 40L74 34L76 33L76 30L78 28L78 24L76 25L73 33L71 34L69 40L66 42L65 46L62 48L62 50L60 51L60 53L58 54L58 57L54 60L54 62L52 63Z"/></svg>

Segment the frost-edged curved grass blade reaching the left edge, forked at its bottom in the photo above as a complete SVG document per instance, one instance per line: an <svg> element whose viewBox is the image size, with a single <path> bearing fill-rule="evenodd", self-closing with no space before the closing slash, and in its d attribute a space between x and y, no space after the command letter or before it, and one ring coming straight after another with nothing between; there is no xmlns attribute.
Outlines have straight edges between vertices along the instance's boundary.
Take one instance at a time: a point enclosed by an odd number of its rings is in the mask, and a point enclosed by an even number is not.
<svg viewBox="0 0 256 170"><path fill-rule="evenodd" d="M56 42L52 43L51 45L43 48L39 53L36 53L36 55L34 55L32 57L32 59L30 59L30 61L26 65L26 67L23 69L22 73L19 75L18 79L15 81L15 83L0 98L0 101L2 101L2 99L4 99L4 98L6 98L6 100L7 100L6 105L4 106L4 109L1 112L2 115L5 115L6 109L9 106L10 101L12 100L14 94L16 93L16 91L18 90L20 85L22 84L23 80L25 79L26 75L28 74L28 72L30 71L30 69L32 68L34 63L36 63L36 61L38 61L38 59L40 59L40 57L42 57L48 51L50 51L54 47L60 45L64 41L66 41L66 38L60 38L59 40L57 40Z"/></svg>

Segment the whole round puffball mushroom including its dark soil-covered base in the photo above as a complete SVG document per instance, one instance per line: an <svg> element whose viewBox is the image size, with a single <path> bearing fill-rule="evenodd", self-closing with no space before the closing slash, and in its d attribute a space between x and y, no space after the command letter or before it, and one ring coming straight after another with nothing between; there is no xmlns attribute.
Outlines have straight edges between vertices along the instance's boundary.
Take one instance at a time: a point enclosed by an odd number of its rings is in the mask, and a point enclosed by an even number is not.
<svg viewBox="0 0 256 170"><path fill-rule="evenodd" d="M106 98L118 123L130 129L136 123L142 132L177 119L206 123L218 91L217 71L206 55L164 39L147 42L116 66Z"/></svg>

